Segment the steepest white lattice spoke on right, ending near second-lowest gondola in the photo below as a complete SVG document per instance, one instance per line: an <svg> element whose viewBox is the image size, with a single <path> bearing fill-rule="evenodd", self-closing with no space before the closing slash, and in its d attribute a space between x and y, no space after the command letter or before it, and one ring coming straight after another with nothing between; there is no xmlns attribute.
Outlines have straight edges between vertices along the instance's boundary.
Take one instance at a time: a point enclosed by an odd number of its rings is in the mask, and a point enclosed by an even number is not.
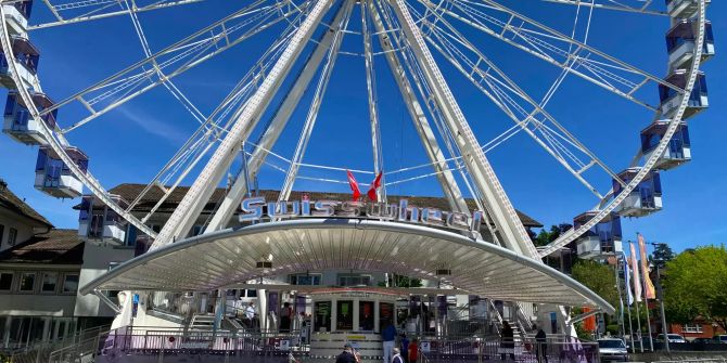
<svg viewBox="0 0 727 363"><path fill-rule="evenodd" d="M514 127L485 145L486 151L490 151L511 138L516 130L522 130L599 200L602 199L603 195L583 177L584 172L592 166L599 166L612 178L615 178L616 173L469 42L451 24L446 20L439 20L438 24L446 27L448 31L430 25L428 22L422 23L424 28L422 33L426 35L425 38L430 44L515 122Z"/></svg>

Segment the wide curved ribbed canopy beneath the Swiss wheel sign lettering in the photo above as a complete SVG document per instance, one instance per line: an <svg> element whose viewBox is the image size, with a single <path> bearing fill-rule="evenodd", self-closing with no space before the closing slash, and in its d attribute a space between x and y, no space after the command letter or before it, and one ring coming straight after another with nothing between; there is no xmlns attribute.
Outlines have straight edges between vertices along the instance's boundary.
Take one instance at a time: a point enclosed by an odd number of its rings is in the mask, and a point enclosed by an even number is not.
<svg viewBox="0 0 727 363"><path fill-rule="evenodd" d="M262 268L260 261L271 264ZM442 280L456 294L614 312L567 275L503 247L422 225L358 219L269 222L178 241L127 261L81 293L201 291L263 276L348 269Z"/></svg>

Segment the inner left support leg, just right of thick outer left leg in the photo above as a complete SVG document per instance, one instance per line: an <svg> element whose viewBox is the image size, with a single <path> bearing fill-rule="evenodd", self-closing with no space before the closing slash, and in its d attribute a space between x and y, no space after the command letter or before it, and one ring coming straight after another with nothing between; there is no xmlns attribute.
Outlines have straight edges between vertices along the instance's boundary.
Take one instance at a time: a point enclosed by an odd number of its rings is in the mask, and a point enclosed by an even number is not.
<svg viewBox="0 0 727 363"><path fill-rule="evenodd" d="M343 7L341 7L336 12L333 23L331 24L340 24L343 15L344 11ZM326 53L331 47L334 35L335 29L330 29L329 31L326 31L323 37L318 41L316 49L313 51L310 57L308 57L306 62L306 65L303 67L303 72L295 80L295 83L293 83L291 91L285 95L285 99L280 104L280 107L276 112L272 121L270 121L270 126L263 133L260 142L258 143L255 151L253 151L247 161L247 172L251 176L257 174L258 170L263 166L263 163L265 163L265 159L268 156L268 151L272 148L276 142L278 142L278 138L285 129L288 120L290 120L291 115L293 115L293 112L295 108L297 108L303 94L310 85L310 80L316 75L320 63L323 61L323 56L326 56ZM222 230L228 225L232 215L234 215L238 206L240 203L242 203L246 190L247 180L244 178L244 176L241 174L234 181L232 187L228 191L225 199L219 205L219 208L217 208L217 211L215 211L215 215L213 216L209 224L205 228L204 233Z"/></svg>

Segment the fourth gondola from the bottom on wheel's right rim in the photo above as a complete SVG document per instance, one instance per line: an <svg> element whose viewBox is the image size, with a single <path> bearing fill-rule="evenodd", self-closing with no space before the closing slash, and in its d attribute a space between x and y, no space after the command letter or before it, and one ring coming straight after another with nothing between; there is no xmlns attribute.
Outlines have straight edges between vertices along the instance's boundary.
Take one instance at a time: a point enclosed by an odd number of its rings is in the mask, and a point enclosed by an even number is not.
<svg viewBox="0 0 727 363"><path fill-rule="evenodd" d="M666 77L665 80L684 89L687 87L688 77L689 73L686 69L677 69ZM664 85L659 85L659 100L661 101L662 118L674 117L681 101L680 93ZM681 119L687 120L709 106L710 101L707 98L706 78L704 77L704 73L700 70L697 74L697 81L694 82L694 88L692 89L691 94L689 94L689 103Z"/></svg>

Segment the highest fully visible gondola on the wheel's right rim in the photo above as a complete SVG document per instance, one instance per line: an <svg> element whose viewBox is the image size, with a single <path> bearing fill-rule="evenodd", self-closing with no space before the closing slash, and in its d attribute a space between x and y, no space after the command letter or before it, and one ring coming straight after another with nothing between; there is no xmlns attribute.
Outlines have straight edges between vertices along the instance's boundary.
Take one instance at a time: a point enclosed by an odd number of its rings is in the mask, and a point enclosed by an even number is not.
<svg viewBox="0 0 727 363"><path fill-rule="evenodd" d="M687 68L694 55L694 36L698 33L699 22L696 20L680 20L666 33L666 51L672 69ZM702 63L714 56L714 35L712 23L704 23L704 46Z"/></svg>

